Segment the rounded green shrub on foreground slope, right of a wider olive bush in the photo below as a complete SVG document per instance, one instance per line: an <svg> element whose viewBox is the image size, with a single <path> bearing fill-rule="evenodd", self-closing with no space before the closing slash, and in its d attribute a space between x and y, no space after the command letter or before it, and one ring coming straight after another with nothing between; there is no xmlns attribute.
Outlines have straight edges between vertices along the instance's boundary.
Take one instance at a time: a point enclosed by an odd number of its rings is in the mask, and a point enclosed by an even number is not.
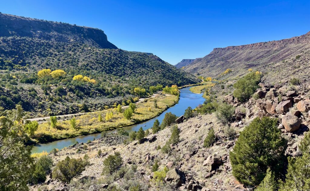
<svg viewBox="0 0 310 191"><path fill-rule="evenodd" d="M115 152L113 155L109 155L106 159L103 161L104 174L112 174L113 172L116 172L123 164L123 160L121 157L121 153Z"/></svg>

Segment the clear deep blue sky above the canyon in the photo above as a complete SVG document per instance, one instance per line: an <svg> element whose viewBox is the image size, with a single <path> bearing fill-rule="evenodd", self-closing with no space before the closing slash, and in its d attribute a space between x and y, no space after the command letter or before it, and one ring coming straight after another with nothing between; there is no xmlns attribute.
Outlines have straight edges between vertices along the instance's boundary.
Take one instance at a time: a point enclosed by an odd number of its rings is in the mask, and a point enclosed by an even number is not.
<svg viewBox="0 0 310 191"><path fill-rule="evenodd" d="M310 1L0 1L2 13L104 30L128 51L170 64L213 48L265 42L310 31Z"/></svg>

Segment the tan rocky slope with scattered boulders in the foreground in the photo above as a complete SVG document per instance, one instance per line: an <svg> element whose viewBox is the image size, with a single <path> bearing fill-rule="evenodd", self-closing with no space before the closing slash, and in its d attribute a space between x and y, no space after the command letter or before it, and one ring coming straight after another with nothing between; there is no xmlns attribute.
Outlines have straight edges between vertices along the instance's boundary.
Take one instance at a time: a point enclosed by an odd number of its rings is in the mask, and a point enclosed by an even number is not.
<svg viewBox="0 0 310 191"><path fill-rule="evenodd" d="M229 151L232 150L238 133L255 117L277 118L278 128L288 140L286 155L299 156L298 143L308 131L310 122L310 100L307 92L289 85L261 83L259 86L254 98L246 103L238 102L232 95L226 95L224 98L225 102L236 107L235 121L228 125L236 132L235 136L229 135L228 127L223 126L215 114L198 115L178 124L180 141L172 146L170 154L157 150L158 145L164 146L169 139L170 128L156 134L150 133L140 144L137 141L124 144L123 140L126 137L107 135L92 143L80 143L64 148L56 156L52 156L54 163L66 156L90 156L91 164L69 185L53 181L50 176L43 185L31 189L105 190L110 185L117 184L121 190L126 190L124 185L130 182L126 182L124 177L111 180L111 177L101 175L104 168L103 160L117 151L121 153L123 166L137 165L133 179L144 185L141 190L249 190L232 176ZM218 87L215 86L216 88ZM205 148L203 141L211 127L215 130L216 143L210 148ZM78 149L81 152L77 153ZM97 156L99 149L103 152L101 156ZM155 160L159 160L159 169L165 166L169 169L164 185L156 185L152 181L154 173L151 168ZM86 179L87 184L82 181Z"/></svg>

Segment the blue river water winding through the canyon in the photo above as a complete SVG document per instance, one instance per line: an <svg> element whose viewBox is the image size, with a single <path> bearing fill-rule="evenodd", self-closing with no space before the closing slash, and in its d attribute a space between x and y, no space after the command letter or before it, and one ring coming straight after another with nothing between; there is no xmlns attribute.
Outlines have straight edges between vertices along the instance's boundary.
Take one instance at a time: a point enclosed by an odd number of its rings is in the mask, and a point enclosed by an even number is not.
<svg viewBox="0 0 310 191"><path fill-rule="evenodd" d="M201 94L193 93L193 92L189 91L189 88L190 87L180 89L180 100L179 100L179 102L177 104L175 104L174 106L170 107L169 109L167 109L166 111L164 111L159 116L152 118L148 121L139 123L139 124L131 125L128 127L123 127L123 129L127 132L138 131L140 127L142 127L144 130L146 130L146 129L149 129L153 126L153 123L156 119L158 119L158 121L160 123L162 123L162 120L164 119L165 114L167 112L171 112L171 113L175 114L176 116L181 116L184 114L184 111L188 107L195 108L199 104L202 104L205 101L205 99L202 98L202 93ZM109 131L109 132L115 132L115 131L116 130ZM91 134L91 135L85 135L85 136L79 136L79 137L74 137L74 138L69 138L69 139L53 141L51 143L36 144L32 149L32 153L42 152L42 151L50 152L53 148L58 148L60 150L64 147L68 147L70 145L73 145L76 141L78 141L78 143L82 143L82 142L86 143L87 140L92 141L94 138L95 139L100 138L100 136L101 136L101 133L96 133L96 134Z"/></svg>

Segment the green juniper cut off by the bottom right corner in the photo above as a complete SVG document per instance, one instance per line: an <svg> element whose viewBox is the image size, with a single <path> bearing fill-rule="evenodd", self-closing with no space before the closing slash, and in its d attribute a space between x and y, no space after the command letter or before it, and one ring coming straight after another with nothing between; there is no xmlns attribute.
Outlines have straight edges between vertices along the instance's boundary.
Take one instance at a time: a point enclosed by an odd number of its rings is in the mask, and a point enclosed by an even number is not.
<svg viewBox="0 0 310 191"><path fill-rule="evenodd" d="M302 156L289 157L285 182L280 185L279 191L310 190L310 133L307 133L299 144Z"/></svg>

